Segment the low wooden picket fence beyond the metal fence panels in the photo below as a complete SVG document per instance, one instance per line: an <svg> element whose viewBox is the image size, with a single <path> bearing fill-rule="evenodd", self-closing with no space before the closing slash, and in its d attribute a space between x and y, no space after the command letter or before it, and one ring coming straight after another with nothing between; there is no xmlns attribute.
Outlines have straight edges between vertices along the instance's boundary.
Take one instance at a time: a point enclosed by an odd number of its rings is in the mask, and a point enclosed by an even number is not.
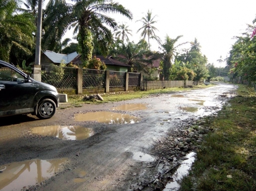
<svg viewBox="0 0 256 191"><path fill-rule="evenodd" d="M193 83L193 81L186 81L187 85ZM142 90L152 90L152 89L163 89L172 87L184 87L184 81L147 81L143 80Z"/></svg>

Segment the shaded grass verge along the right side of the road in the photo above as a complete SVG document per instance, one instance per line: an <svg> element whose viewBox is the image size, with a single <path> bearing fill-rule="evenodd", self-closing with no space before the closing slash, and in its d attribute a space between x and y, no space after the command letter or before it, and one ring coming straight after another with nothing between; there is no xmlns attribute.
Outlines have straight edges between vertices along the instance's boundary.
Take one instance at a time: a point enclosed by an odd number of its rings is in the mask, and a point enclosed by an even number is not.
<svg viewBox="0 0 256 191"><path fill-rule="evenodd" d="M213 131L198 145L180 191L256 190L256 93L243 85L237 93L217 118L206 120Z"/></svg>

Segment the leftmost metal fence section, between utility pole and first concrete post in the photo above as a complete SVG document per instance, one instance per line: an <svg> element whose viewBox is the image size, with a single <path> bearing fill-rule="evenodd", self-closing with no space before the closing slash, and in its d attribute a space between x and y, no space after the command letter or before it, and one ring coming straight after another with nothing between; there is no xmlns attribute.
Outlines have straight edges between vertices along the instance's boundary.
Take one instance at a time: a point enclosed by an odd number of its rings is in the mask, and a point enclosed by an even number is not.
<svg viewBox="0 0 256 191"><path fill-rule="evenodd" d="M75 68L41 65L41 71L42 82L51 84L57 89L75 89Z"/></svg>

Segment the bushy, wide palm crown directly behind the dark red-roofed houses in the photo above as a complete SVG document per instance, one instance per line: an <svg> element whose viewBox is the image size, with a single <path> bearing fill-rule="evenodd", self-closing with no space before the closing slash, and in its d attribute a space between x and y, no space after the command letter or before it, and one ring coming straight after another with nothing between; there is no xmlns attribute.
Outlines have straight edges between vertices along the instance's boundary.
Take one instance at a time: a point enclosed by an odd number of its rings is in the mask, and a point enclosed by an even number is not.
<svg viewBox="0 0 256 191"><path fill-rule="evenodd" d="M143 39L137 44L134 42L121 43L114 55L116 55L117 60L136 68L138 71L148 73L150 65L156 60L156 56L147 47L148 43Z"/></svg>

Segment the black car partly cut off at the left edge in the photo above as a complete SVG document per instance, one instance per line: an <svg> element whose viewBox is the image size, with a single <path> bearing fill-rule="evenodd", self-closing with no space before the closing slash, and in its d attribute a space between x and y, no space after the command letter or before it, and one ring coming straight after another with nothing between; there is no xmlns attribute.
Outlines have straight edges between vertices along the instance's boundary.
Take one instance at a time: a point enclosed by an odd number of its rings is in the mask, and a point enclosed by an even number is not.
<svg viewBox="0 0 256 191"><path fill-rule="evenodd" d="M49 119L58 106L59 94L54 86L0 60L0 117L31 113Z"/></svg>

